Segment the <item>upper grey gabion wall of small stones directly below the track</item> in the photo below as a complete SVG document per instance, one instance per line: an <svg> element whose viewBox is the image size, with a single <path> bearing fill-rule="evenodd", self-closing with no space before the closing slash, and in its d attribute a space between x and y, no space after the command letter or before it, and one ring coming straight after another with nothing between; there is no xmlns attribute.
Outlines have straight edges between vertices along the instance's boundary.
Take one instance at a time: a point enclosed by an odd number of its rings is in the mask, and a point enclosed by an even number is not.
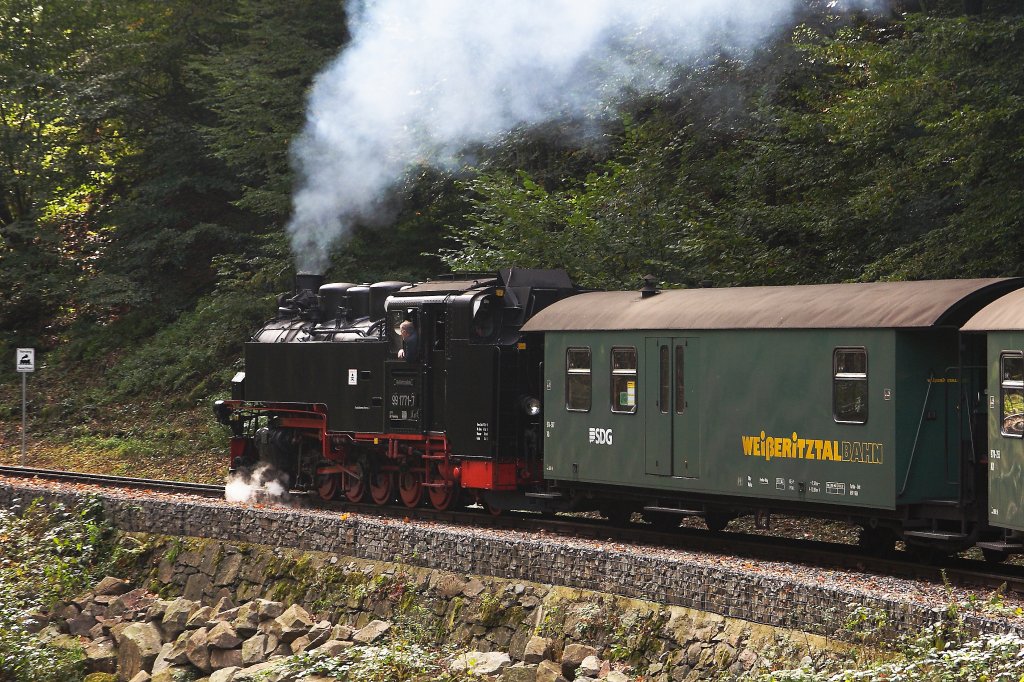
<svg viewBox="0 0 1024 682"><path fill-rule="evenodd" d="M68 504L78 496L0 483L0 506L9 508L15 499L27 502L35 497ZM777 577L667 560L641 551L570 545L556 537L512 539L504 534L470 534L347 514L162 499L100 499L108 517L125 531L269 545L458 574L559 585L824 636L841 632L856 605L885 613L888 623L903 632L932 625L942 620L945 611ZM216 580L214 576L213 582ZM253 596L239 595L242 599ZM1001 622L967 617L968 625L979 632L1008 630Z"/></svg>

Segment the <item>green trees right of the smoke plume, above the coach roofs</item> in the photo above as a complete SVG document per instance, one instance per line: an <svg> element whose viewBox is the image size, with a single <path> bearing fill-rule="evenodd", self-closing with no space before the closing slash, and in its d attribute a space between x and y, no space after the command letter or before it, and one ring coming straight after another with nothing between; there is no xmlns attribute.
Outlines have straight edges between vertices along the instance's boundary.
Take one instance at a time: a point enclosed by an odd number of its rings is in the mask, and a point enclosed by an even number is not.
<svg viewBox="0 0 1024 682"><path fill-rule="evenodd" d="M610 288L1020 273L1019 11L808 20L684 70L584 179L479 172L445 262Z"/></svg>

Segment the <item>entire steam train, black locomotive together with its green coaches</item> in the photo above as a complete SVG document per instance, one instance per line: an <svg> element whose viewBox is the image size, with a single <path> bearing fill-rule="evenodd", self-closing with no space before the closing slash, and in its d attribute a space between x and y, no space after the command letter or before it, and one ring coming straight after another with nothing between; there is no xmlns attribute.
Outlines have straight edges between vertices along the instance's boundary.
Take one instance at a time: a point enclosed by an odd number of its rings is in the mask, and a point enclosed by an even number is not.
<svg viewBox="0 0 1024 682"><path fill-rule="evenodd" d="M412 325L406 338L400 332ZM412 344L412 345L411 345ZM1024 279L586 292L300 274L216 415L325 500L842 519L1024 552Z"/></svg>

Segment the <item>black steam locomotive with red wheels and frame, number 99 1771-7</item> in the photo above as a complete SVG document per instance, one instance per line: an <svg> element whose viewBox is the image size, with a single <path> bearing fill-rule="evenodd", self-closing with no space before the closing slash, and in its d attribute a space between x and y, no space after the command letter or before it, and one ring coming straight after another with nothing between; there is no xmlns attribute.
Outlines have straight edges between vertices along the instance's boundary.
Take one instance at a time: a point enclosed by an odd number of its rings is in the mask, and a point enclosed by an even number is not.
<svg viewBox="0 0 1024 682"><path fill-rule="evenodd" d="M263 463L325 499L438 509L539 482L544 349L520 328L575 292L560 270L369 286L299 275L216 406L230 468Z"/></svg>

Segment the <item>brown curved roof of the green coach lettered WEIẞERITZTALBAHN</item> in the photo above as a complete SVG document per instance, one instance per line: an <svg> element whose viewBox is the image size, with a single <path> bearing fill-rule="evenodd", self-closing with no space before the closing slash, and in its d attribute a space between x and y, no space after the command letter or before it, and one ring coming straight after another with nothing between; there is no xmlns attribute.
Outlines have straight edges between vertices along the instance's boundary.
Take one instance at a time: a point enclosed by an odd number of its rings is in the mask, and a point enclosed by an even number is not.
<svg viewBox="0 0 1024 682"><path fill-rule="evenodd" d="M554 303L525 332L959 327L1024 279L595 292Z"/></svg>

